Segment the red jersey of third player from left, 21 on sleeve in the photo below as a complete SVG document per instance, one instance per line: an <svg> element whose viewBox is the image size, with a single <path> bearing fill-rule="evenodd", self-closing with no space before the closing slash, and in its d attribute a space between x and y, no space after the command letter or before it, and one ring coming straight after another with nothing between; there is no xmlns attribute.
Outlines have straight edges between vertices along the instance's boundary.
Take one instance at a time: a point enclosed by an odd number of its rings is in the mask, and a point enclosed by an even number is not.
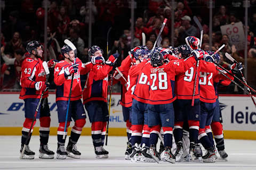
<svg viewBox="0 0 256 170"><path fill-rule="evenodd" d="M108 73L112 66L106 64L95 64L87 74L87 80L83 91L83 104L100 100L107 102Z"/></svg>

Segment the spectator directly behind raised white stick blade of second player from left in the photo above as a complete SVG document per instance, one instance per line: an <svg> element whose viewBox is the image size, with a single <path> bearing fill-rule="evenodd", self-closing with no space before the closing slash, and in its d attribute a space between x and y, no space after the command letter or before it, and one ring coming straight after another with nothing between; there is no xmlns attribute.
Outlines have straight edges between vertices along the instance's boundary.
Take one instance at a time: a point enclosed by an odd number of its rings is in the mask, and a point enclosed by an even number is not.
<svg viewBox="0 0 256 170"><path fill-rule="evenodd" d="M77 56L83 54L84 51L84 40L78 36L78 30L71 28L69 30L69 40L76 46L77 48Z"/></svg>

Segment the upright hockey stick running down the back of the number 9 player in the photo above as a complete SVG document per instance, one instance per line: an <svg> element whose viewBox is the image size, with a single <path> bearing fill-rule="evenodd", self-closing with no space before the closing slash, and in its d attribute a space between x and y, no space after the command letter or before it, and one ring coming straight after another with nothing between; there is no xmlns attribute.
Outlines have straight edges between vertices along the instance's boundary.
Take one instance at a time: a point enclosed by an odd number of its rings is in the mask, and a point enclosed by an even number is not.
<svg viewBox="0 0 256 170"><path fill-rule="evenodd" d="M194 21L197 24L197 27L200 29L200 45L199 45L199 49L201 49L202 46L202 39L203 39L203 27L201 25L201 23L198 21L198 19L196 18L196 16L194 16ZM186 40L187 41L187 40ZM190 47L190 46L189 46ZM191 48L191 47L190 47ZM192 101L191 101L191 106L194 106L195 103L195 95L196 95L196 84L197 84L197 76L198 76L198 67L199 67L199 60L196 62L196 75L195 75L195 83L194 83L194 89L193 89L193 95L192 95Z"/></svg>

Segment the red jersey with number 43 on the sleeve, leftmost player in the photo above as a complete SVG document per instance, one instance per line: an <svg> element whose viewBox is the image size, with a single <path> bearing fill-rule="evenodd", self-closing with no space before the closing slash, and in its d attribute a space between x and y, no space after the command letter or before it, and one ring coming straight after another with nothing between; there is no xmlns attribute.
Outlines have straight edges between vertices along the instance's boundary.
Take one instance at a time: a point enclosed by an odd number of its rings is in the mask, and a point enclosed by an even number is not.
<svg viewBox="0 0 256 170"><path fill-rule="evenodd" d="M46 73L42 64L42 60L38 58L26 58L21 65L20 99L40 98L42 90L35 89L35 83L38 81L46 81ZM48 96L48 90L44 92L43 98Z"/></svg>

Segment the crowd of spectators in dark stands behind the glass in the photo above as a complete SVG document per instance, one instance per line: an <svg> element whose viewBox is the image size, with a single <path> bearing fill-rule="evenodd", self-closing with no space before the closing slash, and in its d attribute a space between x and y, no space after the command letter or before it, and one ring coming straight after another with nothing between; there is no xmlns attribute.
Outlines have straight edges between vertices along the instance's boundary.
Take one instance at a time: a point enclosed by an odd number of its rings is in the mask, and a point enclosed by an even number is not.
<svg viewBox="0 0 256 170"><path fill-rule="evenodd" d="M89 38L89 1L79 0L5 0L2 1L1 33L1 79L0 89L19 89L21 62L26 53L26 44L30 40L39 40L47 53L47 60L62 60L60 48L63 40L69 39L78 49L78 57L90 61L87 50ZM47 3L47 10L44 8ZM223 56L226 52L236 60L244 62L244 51L237 50L230 43L229 37L221 33L220 26L244 21L243 1L214 1L212 23L212 49L222 44L225 48L220 53L222 65L228 67L230 61ZM92 0L92 45L98 45L105 51L107 31L112 27L109 37L109 54L119 53L120 61L128 55L134 46L142 45L142 32L146 35L146 46L153 48L164 18L167 23L162 32L162 47L171 46L171 15L174 8L174 47L185 44L187 36L199 37L200 31L193 21L197 16L203 25L202 49L209 50L209 1L175 1L175 6L168 0L135 1L134 38L131 35L131 1ZM251 1L249 8L249 27L247 35L248 67L247 80L256 87L256 1ZM47 45L44 45L44 15L47 12ZM223 89L233 93L236 87ZM239 90L238 90L239 92Z"/></svg>

